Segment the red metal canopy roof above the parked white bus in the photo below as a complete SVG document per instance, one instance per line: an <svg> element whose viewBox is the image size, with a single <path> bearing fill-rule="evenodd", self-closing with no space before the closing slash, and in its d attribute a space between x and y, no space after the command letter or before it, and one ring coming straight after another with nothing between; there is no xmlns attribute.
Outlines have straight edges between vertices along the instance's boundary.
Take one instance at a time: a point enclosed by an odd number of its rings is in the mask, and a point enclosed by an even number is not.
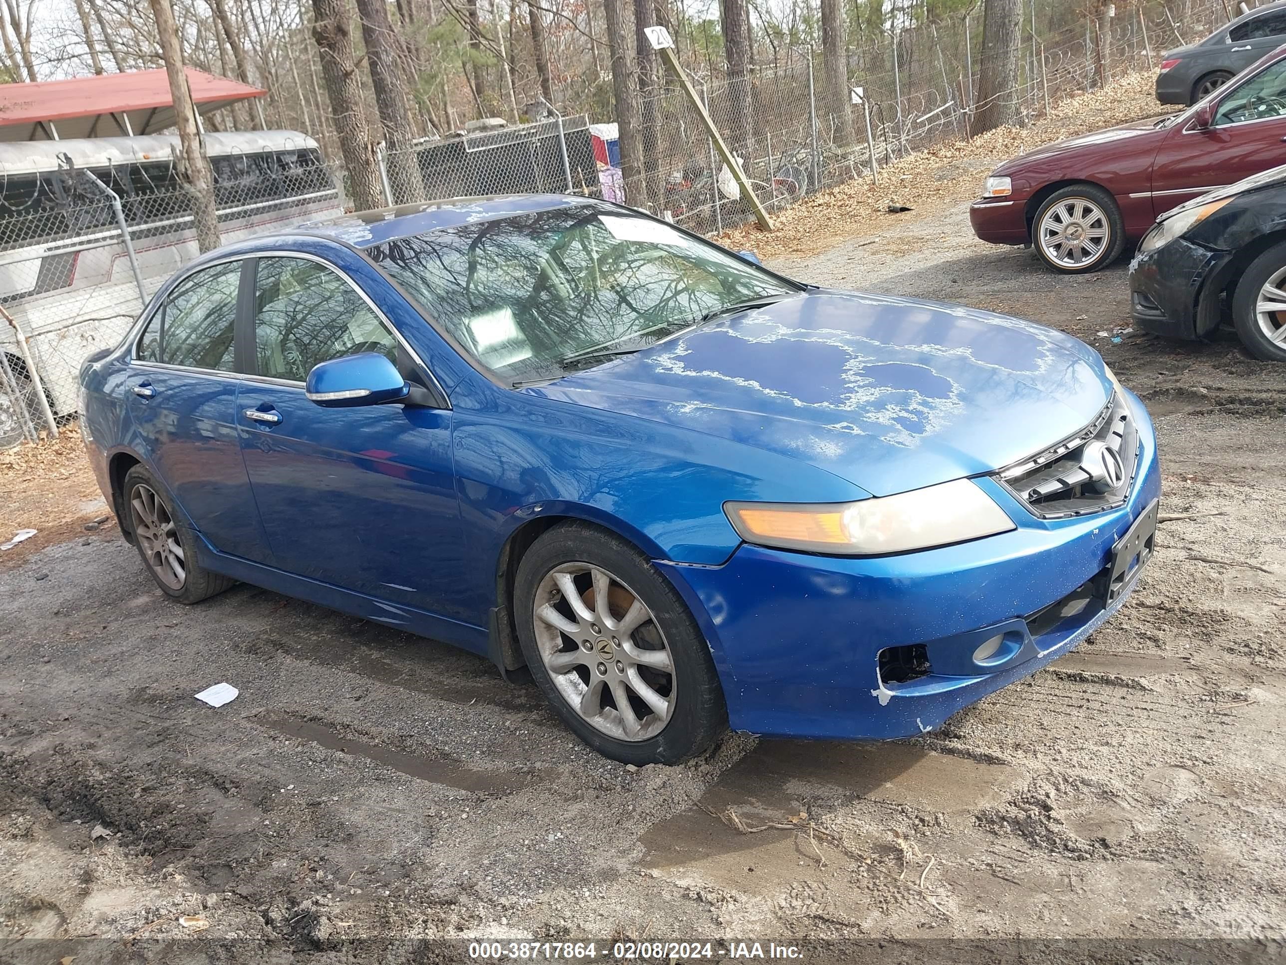
<svg viewBox="0 0 1286 965"><path fill-rule="evenodd" d="M267 91L192 67L188 84L199 113ZM0 140L156 134L174 126L165 68L39 84L0 84Z"/></svg>

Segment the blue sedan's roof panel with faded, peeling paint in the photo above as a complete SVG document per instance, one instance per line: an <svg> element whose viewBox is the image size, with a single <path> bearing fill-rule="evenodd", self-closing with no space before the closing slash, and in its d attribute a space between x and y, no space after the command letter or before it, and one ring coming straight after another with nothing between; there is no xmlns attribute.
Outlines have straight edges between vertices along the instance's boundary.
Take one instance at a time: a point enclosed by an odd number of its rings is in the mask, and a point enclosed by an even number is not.
<svg viewBox="0 0 1286 965"><path fill-rule="evenodd" d="M575 206L619 210L598 198L579 194L490 194L358 211L302 224L296 230L300 234L334 238L355 248L369 248L439 228Z"/></svg>

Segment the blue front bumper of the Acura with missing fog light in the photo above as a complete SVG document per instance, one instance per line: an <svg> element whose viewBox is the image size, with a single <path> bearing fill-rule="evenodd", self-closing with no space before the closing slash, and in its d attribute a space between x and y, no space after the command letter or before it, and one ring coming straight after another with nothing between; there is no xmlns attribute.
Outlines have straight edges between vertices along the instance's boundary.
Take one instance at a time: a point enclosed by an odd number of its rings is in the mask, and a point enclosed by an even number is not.
<svg viewBox="0 0 1286 965"><path fill-rule="evenodd" d="M1017 529L882 558L742 546L723 566L658 564L710 641L733 728L793 737L914 736L1093 633L1128 592L1066 618L1051 619L1047 607L1101 578L1112 544L1160 495L1151 421L1137 399L1130 408L1141 450L1129 499L1118 510L1039 520L981 480ZM999 651L979 666L979 645L998 636ZM921 655L930 672L891 682L887 665L881 674L881 651L886 660L889 652Z"/></svg>

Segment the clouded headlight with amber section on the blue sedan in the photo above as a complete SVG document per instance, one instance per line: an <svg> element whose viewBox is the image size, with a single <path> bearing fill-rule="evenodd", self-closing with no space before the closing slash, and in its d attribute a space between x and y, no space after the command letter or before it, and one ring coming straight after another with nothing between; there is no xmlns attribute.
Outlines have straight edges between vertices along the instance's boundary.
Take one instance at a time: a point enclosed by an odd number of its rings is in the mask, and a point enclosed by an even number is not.
<svg viewBox="0 0 1286 965"><path fill-rule="evenodd" d="M809 553L880 556L1015 529L967 479L853 503L724 503L747 543Z"/></svg>

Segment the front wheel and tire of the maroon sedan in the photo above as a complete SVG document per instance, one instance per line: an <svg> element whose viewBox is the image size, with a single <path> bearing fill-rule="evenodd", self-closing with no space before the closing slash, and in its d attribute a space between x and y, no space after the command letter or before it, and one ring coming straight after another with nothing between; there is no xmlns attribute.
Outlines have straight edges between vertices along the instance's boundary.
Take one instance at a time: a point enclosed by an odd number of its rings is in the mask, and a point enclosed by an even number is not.
<svg viewBox="0 0 1286 965"><path fill-rule="evenodd" d="M1082 275L1106 268L1125 248L1116 199L1094 184L1060 188L1037 210L1031 246L1055 271Z"/></svg>

